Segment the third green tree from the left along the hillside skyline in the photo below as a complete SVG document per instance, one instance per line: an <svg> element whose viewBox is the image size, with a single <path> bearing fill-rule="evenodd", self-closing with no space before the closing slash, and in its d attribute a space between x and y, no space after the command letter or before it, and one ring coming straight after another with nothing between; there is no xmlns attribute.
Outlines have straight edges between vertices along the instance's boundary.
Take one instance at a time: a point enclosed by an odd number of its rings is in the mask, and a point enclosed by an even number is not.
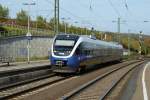
<svg viewBox="0 0 150 100"><path fill-rule="evenodd" d="M36 22L37 22L38 28L46 28L47 22L46 22L46 19L43 18L42 16L37 16Z"/></svg>

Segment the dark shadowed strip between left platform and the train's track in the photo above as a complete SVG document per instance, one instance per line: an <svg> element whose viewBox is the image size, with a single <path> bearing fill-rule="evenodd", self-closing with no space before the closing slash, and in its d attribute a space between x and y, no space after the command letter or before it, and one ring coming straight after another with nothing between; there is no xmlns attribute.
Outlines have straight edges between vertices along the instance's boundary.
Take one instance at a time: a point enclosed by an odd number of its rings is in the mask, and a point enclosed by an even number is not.
<svg viewBox="0 0 150 100"><path fill-rule="evenodd" d="M51 69L45 66L29 69L12 70L9 72L1 71L0 90L13 87L15 85L24 83L24 81L31 81L34 80L36 77L46 76L52 73Z"/></svg>

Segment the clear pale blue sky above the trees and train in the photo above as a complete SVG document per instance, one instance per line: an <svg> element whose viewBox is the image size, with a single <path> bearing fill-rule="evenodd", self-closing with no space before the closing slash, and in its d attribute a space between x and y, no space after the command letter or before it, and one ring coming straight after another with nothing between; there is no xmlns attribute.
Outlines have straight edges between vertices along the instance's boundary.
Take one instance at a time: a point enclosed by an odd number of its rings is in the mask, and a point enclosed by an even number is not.
<svg viewBox="0 0 150 100"><path fill-rule="evenodd" d="M32 2L36 5L23 5ZM32 19L54 16L54 0L0 0L0 4L9 8L12 18L21 9ZM118 17L121 33L142 31L150 35L150 0L60 0L60 21L70 25L117 32Z"/></svg>

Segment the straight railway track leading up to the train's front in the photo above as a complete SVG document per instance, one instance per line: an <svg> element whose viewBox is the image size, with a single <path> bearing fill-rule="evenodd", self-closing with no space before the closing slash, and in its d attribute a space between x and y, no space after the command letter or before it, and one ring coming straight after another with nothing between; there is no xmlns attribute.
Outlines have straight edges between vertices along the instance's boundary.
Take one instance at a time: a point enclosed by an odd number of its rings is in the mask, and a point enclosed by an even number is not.
<svg viewBox="0 0 150 100"><path fill-rule="evenodd" d="M6 100L35 89L52 85L68 77L56 76L55 74L45 75L31 80L23 81L0 90L0 100Z"/></svg>

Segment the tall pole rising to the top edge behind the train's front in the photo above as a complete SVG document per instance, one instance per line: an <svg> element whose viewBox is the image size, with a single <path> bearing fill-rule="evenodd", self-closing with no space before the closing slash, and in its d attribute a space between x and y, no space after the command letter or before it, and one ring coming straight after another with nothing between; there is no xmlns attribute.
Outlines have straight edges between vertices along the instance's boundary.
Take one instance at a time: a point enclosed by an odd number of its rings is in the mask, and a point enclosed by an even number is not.
<svg viewBox="0 0 150 100"><path fill-rule="evenodd" d="M55 0L54 6L54 32L59 33L59 0Z"/></svg>

